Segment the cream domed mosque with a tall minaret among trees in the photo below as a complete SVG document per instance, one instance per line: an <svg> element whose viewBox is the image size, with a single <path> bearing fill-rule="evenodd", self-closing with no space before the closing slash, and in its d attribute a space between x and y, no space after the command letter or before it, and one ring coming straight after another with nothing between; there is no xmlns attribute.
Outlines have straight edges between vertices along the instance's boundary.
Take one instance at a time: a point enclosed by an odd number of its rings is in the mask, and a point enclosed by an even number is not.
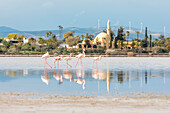
<svg viewBox="0 0 170 113"><path fill-rule="evenodd" d="M99 33L94 40L90 40L90 45L86 45L85 40L82 41L82 43L77 44L77 48L97 48L97 46L106 47L106 49L109 49L110 41L111 41L111 29L110 29L110 21L107 22L107 33L101 32Z"/></svg>

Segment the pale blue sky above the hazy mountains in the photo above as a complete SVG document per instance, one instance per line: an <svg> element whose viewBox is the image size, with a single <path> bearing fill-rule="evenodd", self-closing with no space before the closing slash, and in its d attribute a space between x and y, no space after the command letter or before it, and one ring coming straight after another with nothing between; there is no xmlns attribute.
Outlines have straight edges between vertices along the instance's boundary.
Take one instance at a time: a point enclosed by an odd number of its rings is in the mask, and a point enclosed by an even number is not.
<svg viewBox="0 0 170 113"><path fill-rule="evenodd" d="M18 30L53 30L63 27L111 25L152 31L170 30L170 0L0 0L0 26Z"/></svg>

